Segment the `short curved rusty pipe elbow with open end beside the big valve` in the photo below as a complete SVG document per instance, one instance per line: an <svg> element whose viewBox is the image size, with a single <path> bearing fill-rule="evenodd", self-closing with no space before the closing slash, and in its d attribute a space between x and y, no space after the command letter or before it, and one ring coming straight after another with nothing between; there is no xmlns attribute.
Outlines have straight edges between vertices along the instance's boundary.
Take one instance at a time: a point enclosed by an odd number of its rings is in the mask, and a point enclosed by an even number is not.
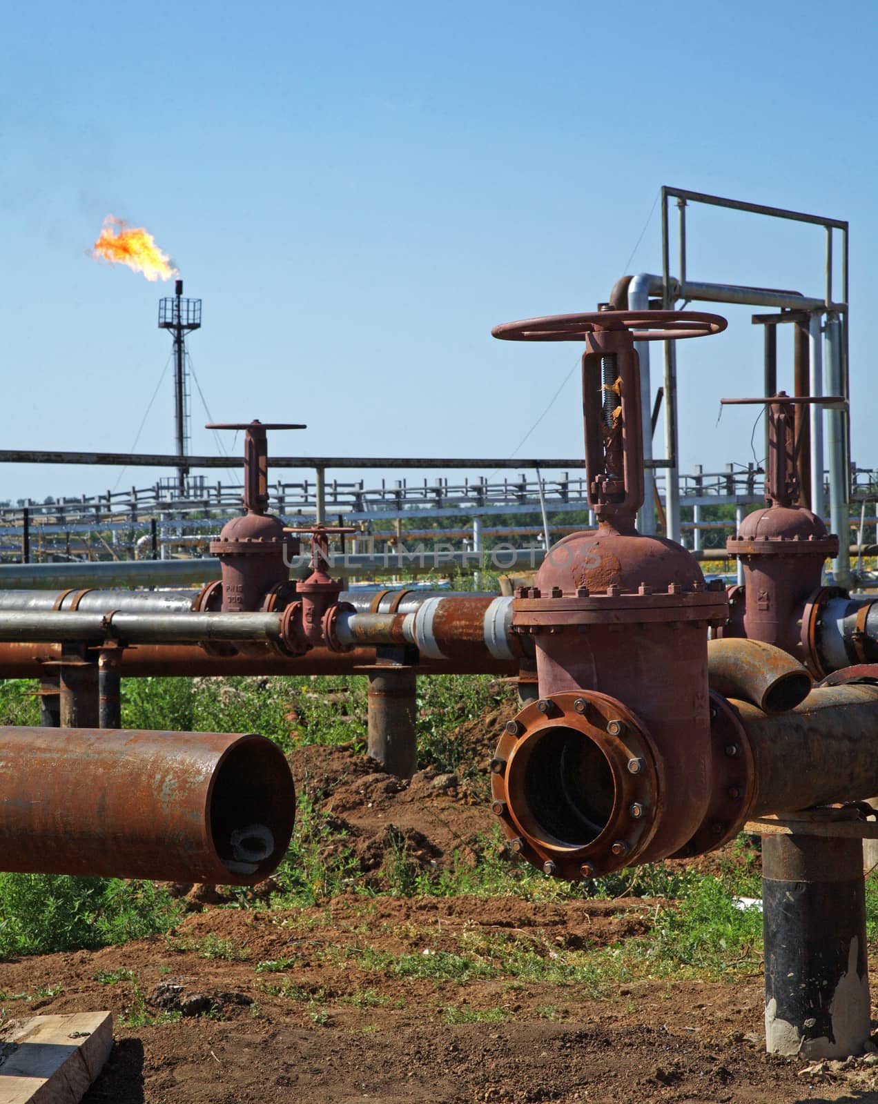
<svg viewBox="0 0 878 1104"><path fill-rule="evenodd" d="M765 713L794 709L812 686L798 660L761 640L708 641L707 673L711 690L749 701Z"/></svg>

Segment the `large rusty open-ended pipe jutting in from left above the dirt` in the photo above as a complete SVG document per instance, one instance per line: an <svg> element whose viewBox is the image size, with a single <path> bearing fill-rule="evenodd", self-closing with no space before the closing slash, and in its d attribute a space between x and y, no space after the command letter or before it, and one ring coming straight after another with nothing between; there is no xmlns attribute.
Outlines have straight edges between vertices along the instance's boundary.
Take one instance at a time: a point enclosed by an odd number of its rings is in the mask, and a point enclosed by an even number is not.
<svg viewBox="0 0 878 1104"><path fill-rule="evenodd" d="M260 735L4 726L0 764L4 870L252 885L293 832Z"/></svg>

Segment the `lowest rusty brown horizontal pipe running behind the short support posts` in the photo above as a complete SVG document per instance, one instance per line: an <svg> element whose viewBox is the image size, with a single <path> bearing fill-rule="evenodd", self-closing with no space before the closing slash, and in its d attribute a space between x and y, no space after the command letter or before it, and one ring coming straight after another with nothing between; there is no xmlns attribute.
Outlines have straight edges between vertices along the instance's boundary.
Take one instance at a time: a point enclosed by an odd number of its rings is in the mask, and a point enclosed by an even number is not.
<svg viewBox="0 0 878 1104"><path fill-rule="evenodd" d="M233 616L240 616L234 614ZM255 647L255 646L254 646ZM57 644L0 644L0 679L41 678L47 664L61 660ZM374 647L335 652L313 648L304 656L282 656L268 645L264 655L211 656L194 645L150 644L125 648L121 677L195 678L236 675L366 675L377 661ZM51 668L50 668L51 669ZM518 659L498 659L485 649L480 656L453 656L449 659L422 657L419 675L508 675L517 676Z"/></svg>

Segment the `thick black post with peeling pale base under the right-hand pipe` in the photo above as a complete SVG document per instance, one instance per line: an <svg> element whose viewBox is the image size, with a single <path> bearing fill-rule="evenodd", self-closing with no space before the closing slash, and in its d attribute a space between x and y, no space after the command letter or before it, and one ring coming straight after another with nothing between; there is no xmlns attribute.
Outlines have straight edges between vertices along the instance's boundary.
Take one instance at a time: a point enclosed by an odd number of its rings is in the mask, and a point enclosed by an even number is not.
<svg viewBox="0 0 878 1104"><path fill-rule="evenodd" d="M763 836L765 1048L847 1058L869 1041L863 843Z"/></svg>

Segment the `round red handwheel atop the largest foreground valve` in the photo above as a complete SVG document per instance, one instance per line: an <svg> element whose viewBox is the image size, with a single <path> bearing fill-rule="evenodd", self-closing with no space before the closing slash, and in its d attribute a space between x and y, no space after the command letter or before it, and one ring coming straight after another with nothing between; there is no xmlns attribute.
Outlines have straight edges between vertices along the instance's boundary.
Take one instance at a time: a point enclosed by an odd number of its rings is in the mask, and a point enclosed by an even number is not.
<svg viewBox="0 0 878 1104"><path fill-rule="evenodd" d="M728 321L699 310L597 310L503 322L490 331L504 341L579 341L600 330L628 330L635 341L676 341L721 333Z"/></svg>

